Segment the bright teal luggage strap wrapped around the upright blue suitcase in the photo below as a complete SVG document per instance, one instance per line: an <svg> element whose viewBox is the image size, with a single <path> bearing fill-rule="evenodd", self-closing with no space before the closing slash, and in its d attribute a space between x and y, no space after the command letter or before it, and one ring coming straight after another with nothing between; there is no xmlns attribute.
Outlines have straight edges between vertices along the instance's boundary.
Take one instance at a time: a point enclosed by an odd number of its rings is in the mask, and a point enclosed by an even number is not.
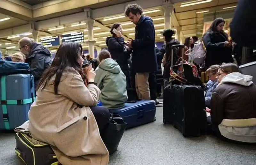
<svg viewBox="0 0 256 165"><path fill-rule="evenodd" d="M1 77L1 98L0 105L2 105L3 109L3 120L4 120L4 127L6 130L10 130L10 124L9 124L9 116L7 111L7 105L24 105L24 104L30 104L36 100L36 97L33 97L33 91L32 91L32 98L29 99L23 99L23 100L6 100L6 76Z"/></svg>

